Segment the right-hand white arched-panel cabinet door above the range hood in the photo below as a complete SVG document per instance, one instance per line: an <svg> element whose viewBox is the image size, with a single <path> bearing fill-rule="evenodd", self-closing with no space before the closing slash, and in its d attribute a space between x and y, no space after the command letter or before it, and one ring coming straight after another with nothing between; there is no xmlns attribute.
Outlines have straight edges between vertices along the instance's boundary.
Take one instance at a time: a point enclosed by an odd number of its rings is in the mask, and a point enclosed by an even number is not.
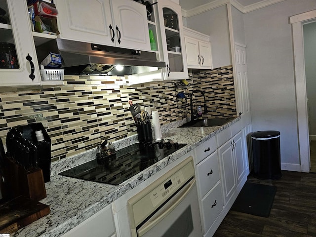
<svg viewBox="0 0 316 237"><path fill-rule="evenodd" d="M132 0L112 0L118 47L150 51L146 6Z"/></svg>

